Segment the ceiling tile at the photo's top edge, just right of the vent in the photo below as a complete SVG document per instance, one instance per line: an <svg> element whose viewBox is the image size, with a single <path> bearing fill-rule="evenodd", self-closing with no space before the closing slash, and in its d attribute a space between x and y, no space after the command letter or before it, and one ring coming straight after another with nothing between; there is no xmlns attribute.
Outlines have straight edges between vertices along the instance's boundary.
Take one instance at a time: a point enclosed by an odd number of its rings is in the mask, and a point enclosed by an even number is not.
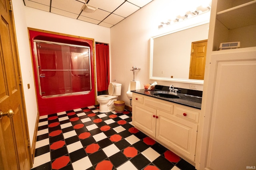
<svg viewBox="0 0 256 170"><path fill-rule="evenodd" d="M90 0L88 2L88 5L97 7L108 12L113 12L114 10L116 10L116 8L118 8L118 6L123 3L124 0L111 0L111 3L109 0Z"/></svg>

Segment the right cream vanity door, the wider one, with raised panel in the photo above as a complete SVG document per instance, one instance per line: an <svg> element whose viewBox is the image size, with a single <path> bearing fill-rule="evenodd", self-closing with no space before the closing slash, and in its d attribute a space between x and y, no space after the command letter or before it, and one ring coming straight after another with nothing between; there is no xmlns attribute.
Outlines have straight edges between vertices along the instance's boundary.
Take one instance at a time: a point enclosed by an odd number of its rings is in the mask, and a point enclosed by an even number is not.
<svg viewBox="0 0 256 170"><path fill-rule="evenodd" d="M198 125L158 110L156 139L194 161Z"/></svg>

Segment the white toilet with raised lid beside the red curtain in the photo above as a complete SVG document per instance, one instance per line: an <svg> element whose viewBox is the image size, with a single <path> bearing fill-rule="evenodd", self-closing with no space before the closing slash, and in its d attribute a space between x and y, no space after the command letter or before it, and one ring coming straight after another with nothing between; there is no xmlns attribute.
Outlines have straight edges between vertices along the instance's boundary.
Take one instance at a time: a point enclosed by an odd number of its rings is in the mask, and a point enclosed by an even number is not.
<svg viewBox="0 0 256 170"><path fill-rule="evenodd" d="M115 110L114 101L121 95L122 84L110 82L108 85L109 95L97 96L97 101L100 104L100 113L106 113Z"/></svg>

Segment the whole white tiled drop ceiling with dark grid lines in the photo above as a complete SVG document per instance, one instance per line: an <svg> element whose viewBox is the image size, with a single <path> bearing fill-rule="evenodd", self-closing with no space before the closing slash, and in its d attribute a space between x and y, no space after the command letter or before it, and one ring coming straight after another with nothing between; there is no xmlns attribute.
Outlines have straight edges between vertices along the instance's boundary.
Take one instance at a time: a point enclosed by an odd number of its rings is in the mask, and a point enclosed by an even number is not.
<svg viewBox="0 0 256 170"><path fill-rule="evenodd" d="M104 27L112 27L152 0L23 0L25 6L52 12ZM98 8L93 13L82 10L84 4Z"/></svg>

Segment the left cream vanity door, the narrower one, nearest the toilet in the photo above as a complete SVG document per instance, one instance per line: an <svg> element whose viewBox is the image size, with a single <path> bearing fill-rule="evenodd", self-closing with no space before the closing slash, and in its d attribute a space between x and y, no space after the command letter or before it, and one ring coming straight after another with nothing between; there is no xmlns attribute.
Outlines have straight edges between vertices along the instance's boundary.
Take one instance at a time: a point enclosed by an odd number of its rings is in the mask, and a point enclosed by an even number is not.
<svg viewBox="0 0 256 170"><path fill-rule="evenodd" d="M148 135L155 137L156 109L134 102L132 107L132 124Z"/></svg>

